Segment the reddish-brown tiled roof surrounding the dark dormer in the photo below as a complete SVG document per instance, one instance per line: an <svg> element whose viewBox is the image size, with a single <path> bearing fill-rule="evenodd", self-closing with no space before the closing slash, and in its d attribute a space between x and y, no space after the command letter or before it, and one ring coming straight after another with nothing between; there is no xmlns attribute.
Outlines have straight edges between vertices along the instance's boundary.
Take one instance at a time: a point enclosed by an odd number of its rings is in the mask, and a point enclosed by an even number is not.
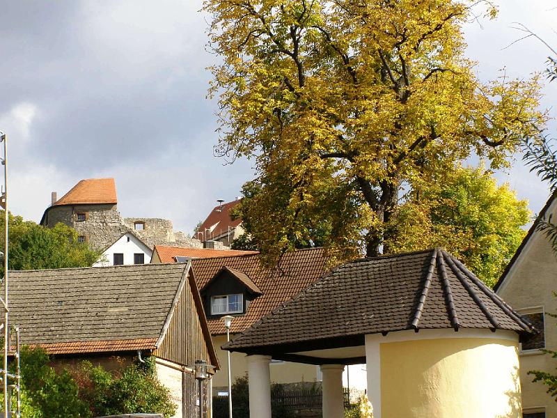
<svg viewBox="0 0 557 418"><path fill-rule="evenodd" d="M191 262L191 269L199 288L203 288L225 265L228 269L246 274L262 295L250 302L248 311L232 321L230 332L241 332L281 303L297 295L327 271L322 248L299 249L282 256L278 267L262 268L257 254L200 258ZM211 334L225 334L220 318L207 320Z"/></svg>

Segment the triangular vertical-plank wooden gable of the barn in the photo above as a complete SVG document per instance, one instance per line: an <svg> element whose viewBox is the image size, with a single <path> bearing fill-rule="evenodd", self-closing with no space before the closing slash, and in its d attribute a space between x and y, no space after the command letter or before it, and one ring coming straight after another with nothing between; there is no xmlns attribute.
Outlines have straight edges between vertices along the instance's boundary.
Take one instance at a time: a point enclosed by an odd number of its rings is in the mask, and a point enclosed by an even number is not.
<svg viewBox="0 0 557 418"><path fill-rule="evenodd" d="M205 360L211 364L210 348L207 347L200 316L194 300L197 288L191 288L191 279L182 287L166 335L155 355L170 362L187 366L196 360ZM211 343L211 342L210 342Z"/></svg>

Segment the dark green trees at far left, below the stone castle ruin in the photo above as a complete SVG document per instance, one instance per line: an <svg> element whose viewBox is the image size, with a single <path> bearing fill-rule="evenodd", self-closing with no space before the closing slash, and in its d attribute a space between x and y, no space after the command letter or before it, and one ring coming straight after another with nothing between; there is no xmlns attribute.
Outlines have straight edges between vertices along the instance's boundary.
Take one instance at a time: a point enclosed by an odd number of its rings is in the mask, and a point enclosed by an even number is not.
<svg viewBox="0 0 557 418"><path fill-rule="evenodd" d="M0 231L3 231L3 211ZM64 224L49 229L20 216L8 214L9 258L12 270L90 267L100 256L85 243L77 241L77 232ZM3 240L0 243L3 251Z"/></svg>

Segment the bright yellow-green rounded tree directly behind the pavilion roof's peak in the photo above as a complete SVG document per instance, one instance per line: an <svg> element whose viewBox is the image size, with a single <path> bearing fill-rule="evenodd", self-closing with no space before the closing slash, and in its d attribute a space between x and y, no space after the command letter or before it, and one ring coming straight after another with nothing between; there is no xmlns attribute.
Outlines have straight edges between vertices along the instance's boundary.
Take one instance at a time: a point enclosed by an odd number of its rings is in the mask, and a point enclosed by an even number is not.
<svg viewBox="0 0 557 418"><path fill-rule="evenodd" d="M456 167L409 192L390 235L393 251L444 247L494 286L515 254L530 220L528 202L490 171Z"/></svg>

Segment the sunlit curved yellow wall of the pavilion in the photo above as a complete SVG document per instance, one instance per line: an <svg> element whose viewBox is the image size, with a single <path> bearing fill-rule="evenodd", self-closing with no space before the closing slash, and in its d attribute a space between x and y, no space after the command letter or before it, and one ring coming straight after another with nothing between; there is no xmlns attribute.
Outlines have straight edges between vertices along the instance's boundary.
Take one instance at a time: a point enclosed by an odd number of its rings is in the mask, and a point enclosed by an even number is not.
<svg viewBox="0 0 557 418"><path fill-rule="evenodd" d="M517 343L452 338L382 343L382 418L519 418Z"/></svg>

